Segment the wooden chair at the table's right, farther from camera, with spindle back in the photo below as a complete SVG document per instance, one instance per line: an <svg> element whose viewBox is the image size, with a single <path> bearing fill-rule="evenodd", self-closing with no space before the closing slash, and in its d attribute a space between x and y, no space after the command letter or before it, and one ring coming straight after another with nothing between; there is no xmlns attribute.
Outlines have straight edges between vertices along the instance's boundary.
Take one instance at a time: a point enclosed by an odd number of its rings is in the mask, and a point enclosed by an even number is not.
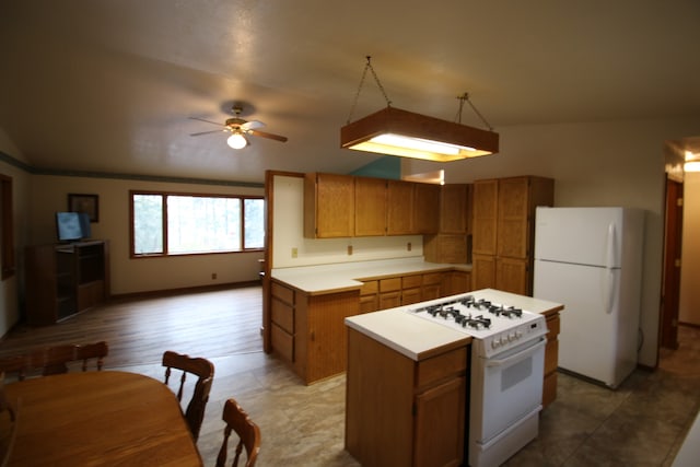
<svg viewBox="0 0 700 467"><path fill-rule="evenodd" d="M177 400L180 402L183 400L183 390L187 374L190 373L198 377L192 390L192 397L185 410L185 419L187 420L195 441L197 441L201 422L205 419L205 409L209 401L209 392L211 390L211 384L214 380L214 365L207 359L191 358L173 352L172 350L166 350L163 353L163 366L165 366L165 384L168 384L172 369L183 372L177 389Z"/></svg>

